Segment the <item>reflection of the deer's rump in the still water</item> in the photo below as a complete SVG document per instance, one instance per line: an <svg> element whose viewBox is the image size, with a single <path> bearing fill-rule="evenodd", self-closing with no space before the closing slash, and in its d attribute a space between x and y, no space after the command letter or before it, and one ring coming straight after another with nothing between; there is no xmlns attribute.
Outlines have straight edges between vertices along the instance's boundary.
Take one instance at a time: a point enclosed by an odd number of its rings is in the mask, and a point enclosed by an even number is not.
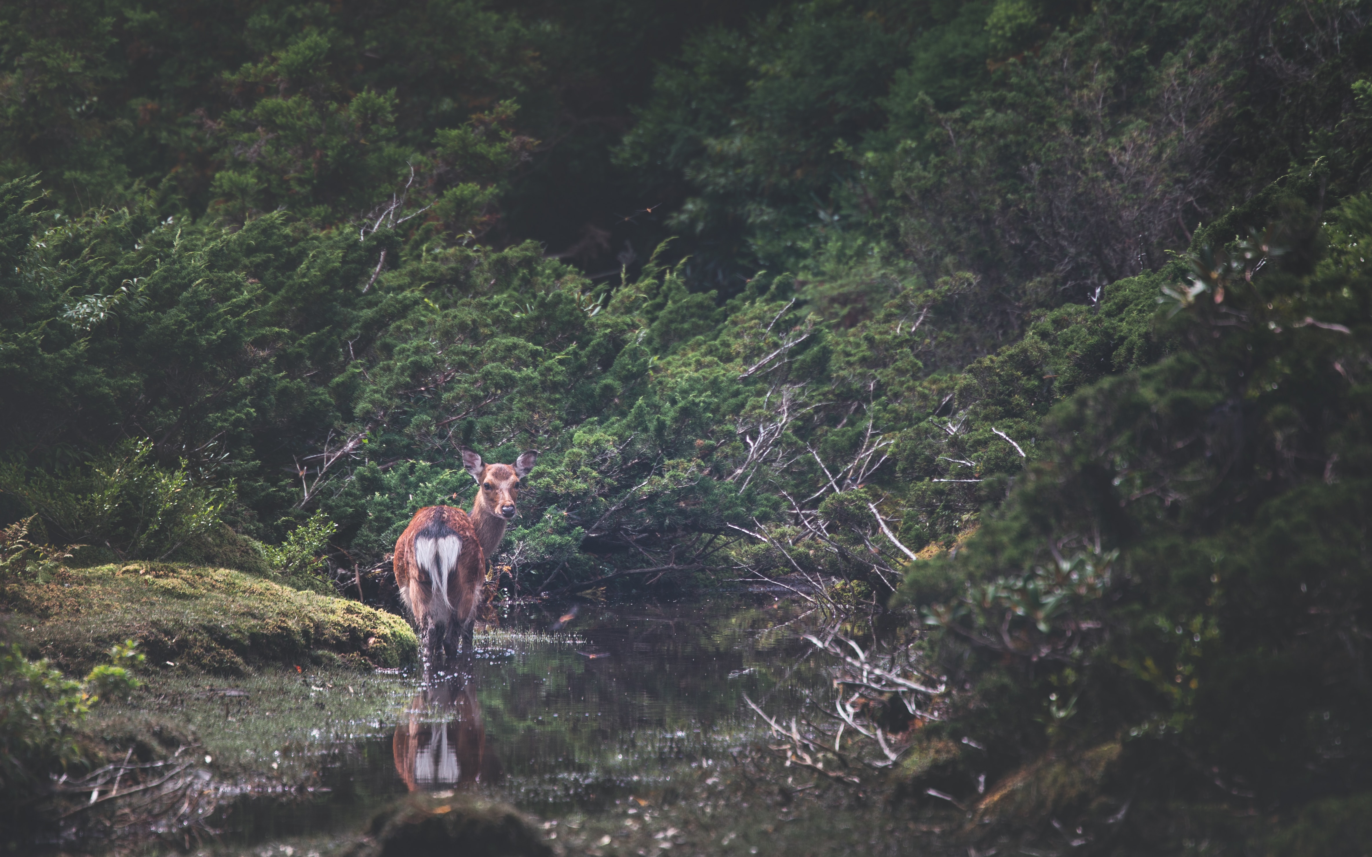
<svg viewBox="0 0 1372 857"><path fill-rule="evenodd" d="M410 791L475 787L501 779L501 762L486 743L482 703L466 676L425 687L395 727L395 771Z"/></svg>

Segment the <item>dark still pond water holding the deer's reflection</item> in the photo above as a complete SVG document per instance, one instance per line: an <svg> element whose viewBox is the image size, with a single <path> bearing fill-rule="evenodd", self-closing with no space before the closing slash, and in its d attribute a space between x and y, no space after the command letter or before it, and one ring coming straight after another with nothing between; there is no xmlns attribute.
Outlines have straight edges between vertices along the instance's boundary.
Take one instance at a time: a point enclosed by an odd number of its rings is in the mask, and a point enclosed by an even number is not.
<svg viewBox="0 0 1372 857"><path fill-rule="evenodd" d="M462 676L428 688L397 677L407 703L311 750L313 791L233 804L221 845L342 835L416 790L473 790L542 819L671 801L685 777L757 746L745 694L799 710L822 681L801 639L815 617L789 601L583 605L550 632L557 618L506 617L477 636Z"/></svg>

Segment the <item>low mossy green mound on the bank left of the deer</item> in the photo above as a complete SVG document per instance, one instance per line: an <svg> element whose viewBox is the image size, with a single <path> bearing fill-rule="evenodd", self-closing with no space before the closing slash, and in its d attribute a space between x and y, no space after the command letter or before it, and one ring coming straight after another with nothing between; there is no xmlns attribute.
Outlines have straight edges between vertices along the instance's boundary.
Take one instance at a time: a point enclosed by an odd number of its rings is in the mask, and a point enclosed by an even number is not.
<svg viewBox="0 0 1372 857"><path fill-rule="evenodd" d="M418 643L398 616L220 568L62 569L0 591L26 649L82 672L134 638L151 665L241 675L258 664L401 666Z"/></svg>

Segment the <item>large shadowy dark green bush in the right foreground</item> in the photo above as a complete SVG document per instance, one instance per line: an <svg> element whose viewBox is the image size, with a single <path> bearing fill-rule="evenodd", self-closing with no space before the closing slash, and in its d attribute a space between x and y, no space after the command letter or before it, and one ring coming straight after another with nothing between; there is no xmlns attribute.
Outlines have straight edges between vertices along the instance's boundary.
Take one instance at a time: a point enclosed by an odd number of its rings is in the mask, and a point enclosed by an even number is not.
<svg viewBox="0 0 1372 857"><path fill-rule="evenodd" d="M1000 764L1122 738L1192 799L1368 787L1372 196L1327 217L1194 255L1176 352L1055 407L978 538L910 576L954 681L996 688L958 728Z"/></svg>

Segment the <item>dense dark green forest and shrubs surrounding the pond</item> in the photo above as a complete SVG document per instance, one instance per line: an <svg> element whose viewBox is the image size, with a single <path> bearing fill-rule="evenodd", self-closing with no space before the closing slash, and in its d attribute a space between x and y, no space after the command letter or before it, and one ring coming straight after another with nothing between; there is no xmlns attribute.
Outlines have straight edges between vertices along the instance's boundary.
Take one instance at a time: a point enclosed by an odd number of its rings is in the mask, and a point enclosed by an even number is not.
<svg viewBox="0 0 1372 857"><path fill-rule="evenodd" d="M392 605L532 447L506 594L842 579L910 782L1365 804L1369 16L5 3L0 524Z"/></svg>

